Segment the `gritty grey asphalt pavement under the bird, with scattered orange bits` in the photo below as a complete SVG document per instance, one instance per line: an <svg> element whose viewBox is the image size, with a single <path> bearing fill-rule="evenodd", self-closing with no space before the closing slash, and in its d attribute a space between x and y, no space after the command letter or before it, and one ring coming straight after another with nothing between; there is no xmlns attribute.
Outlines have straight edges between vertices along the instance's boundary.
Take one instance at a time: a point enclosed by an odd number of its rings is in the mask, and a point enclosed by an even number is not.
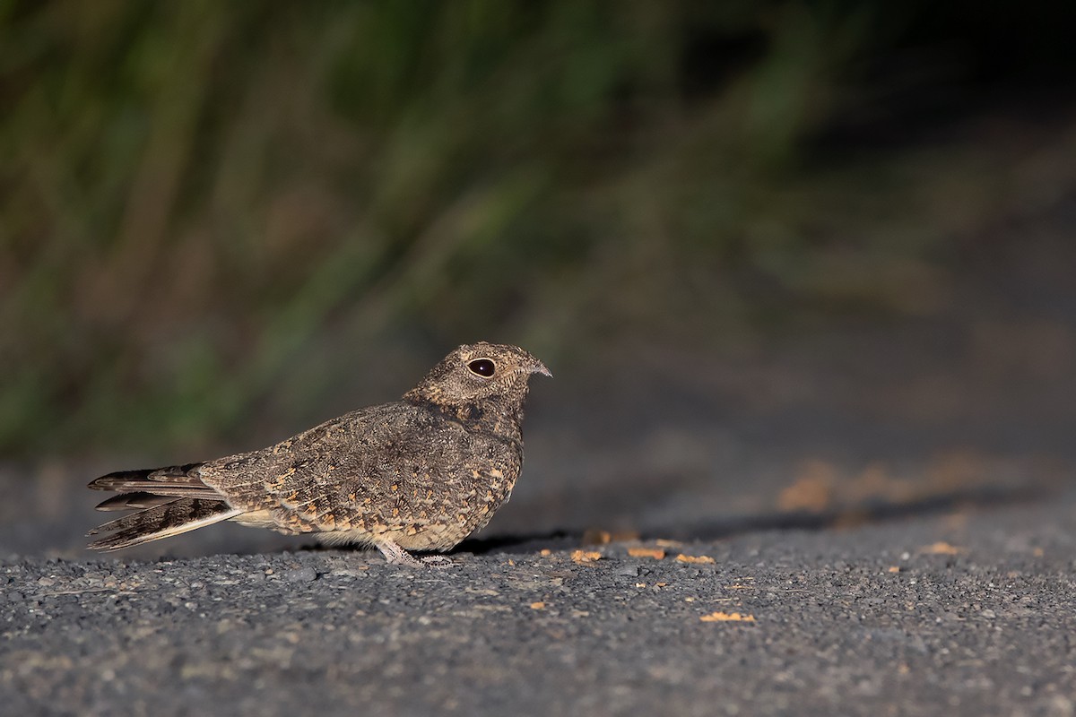
<svg viewBox="0 0 1076 717"><path fill-rule="evenodd" d="M10 715L1076 712L1076 493L716 541L0 563ZM608 540L606 543L604 541Z"/></svg>

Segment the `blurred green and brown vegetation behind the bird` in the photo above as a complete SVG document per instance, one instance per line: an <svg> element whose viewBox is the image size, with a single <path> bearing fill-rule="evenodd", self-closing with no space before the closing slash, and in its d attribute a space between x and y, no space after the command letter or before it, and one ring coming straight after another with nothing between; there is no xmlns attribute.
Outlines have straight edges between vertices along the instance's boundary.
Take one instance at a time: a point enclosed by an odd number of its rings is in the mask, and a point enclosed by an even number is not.
<svg viewBox="0 0 1076 717"><path fill-rule="evenodd" d="M0 454L298 428L393 345L424 367L479 338L546 357L736 341L792 306L929 313L946 243L1063 164L902 148L953 106L908 98L1001 71L953 49L964 21L2 0Z"/></svg>

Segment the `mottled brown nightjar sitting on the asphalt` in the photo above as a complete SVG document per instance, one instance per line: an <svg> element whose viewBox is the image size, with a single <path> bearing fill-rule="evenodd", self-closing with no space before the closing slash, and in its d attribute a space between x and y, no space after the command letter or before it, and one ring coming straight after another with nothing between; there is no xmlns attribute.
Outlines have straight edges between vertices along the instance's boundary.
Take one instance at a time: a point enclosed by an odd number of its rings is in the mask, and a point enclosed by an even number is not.
<svg viewBox="0 0 1076 717"><path fill-rule="evenodd" d="M402 399L352 411L260 450L89 484L99 511L134 511L88 534L116 550L223 520L328 545L378 548L392 564L447 567L440 555L483 528L523 467L523 407L546 364L478 342L445 356Z"/></svg>

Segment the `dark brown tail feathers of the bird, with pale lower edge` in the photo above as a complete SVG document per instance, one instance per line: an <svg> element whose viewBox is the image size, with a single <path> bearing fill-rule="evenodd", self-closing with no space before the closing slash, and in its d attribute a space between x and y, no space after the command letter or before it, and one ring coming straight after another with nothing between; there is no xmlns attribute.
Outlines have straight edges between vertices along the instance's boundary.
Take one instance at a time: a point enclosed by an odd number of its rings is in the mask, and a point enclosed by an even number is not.
<svg viewBox="0 0 1076 717"><path fill-rule="evenodd" d="M202 483L201 463L172 465L145 471L110 473L91 482L94 490L114 490L117 496L103 501L98 511L134 510L136 513L89 531L112 533L94 541L95 550L118 550L179 535L188 530L233 518L241 510L228 504L224 496Z"/></svg>

